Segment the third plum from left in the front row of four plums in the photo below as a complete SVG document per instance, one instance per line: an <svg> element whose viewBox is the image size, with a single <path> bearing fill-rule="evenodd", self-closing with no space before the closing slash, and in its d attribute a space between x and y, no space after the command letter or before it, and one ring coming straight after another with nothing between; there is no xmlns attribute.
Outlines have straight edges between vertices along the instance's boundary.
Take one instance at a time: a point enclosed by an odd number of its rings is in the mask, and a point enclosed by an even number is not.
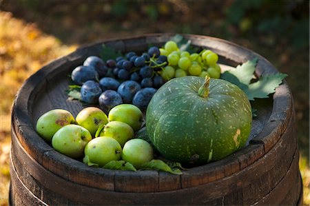
<svg viewBox="0 0 310 206"><path fill-rule="evenodd" d="M123 103L131 103L138 90L141 90L141 85L136 81L128 80L119 85L117 92L121 94Z"/></svg>

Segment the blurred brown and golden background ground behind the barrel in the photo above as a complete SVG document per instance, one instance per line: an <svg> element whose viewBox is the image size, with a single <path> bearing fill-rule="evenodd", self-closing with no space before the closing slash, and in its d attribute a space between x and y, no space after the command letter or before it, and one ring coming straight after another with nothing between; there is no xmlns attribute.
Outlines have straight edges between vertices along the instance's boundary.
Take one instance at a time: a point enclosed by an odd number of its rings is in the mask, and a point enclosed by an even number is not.
<svg viewBox="0 0 310 206"><path fill-rule="evenodd" d="M227 39L289 74L296 107L304 205L309 183L309 1L0 0L0 205L8 205L10 107L33 72L75 48L154 32Z"/></svg>

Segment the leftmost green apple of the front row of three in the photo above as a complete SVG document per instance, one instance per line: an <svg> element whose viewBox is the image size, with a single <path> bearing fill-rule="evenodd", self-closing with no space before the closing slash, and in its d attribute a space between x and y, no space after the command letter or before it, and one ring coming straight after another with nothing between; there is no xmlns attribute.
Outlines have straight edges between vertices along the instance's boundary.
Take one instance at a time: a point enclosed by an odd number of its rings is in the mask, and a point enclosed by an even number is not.
<svg viewBox="0 0 310 206"><path fill-rule="evenodd" d="M80 158L84 154L85 145L91 140L90 132L80 125L65 125L52 137L52 146L61 154Z"/></svg>

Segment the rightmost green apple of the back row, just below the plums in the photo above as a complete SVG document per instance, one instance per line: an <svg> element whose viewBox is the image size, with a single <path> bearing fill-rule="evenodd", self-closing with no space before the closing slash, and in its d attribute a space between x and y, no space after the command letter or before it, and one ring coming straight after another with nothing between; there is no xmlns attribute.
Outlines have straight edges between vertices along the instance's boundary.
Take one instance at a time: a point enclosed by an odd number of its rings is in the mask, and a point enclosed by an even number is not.
<svg viewBox="0 0 310 206"><path fill-rule="evenodd" d="M109 121L121 121L127 123L136 132L143 123L143 114L135 105L121 104L113 107L109 112Z"/></svg>

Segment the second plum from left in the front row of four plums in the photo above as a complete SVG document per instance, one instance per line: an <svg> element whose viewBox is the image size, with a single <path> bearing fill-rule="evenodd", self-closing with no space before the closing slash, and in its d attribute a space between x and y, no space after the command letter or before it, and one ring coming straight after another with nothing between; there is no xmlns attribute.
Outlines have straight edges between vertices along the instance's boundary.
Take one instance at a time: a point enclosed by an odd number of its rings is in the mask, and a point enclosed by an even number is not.
<svg viewBox="0 0 310 206"><path fill-rule="evenodd" d="M122 103L123 99L121 95L114 90L106 90L99 96L99 105L106 114L109 113L112 107Z"/></svg>

